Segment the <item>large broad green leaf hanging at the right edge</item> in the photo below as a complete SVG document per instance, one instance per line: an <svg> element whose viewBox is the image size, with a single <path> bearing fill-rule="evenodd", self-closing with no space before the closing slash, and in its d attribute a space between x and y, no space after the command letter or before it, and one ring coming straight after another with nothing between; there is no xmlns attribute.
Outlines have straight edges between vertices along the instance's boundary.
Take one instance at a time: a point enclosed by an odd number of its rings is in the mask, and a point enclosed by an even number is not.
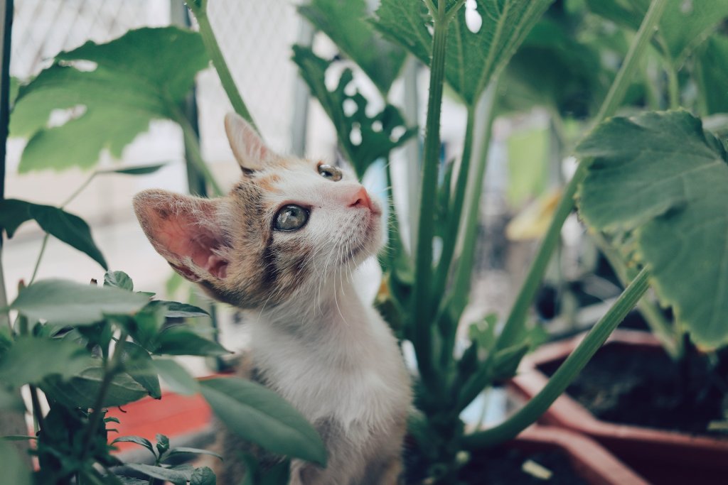
<svg viewBox="0 0 728 485"><path fill-rule="evenodd" d="M579 145L593 157L579 192L601 231L633 231L660 299L705 348L728 343L728 157L686 111L601 124Z"/></svg>

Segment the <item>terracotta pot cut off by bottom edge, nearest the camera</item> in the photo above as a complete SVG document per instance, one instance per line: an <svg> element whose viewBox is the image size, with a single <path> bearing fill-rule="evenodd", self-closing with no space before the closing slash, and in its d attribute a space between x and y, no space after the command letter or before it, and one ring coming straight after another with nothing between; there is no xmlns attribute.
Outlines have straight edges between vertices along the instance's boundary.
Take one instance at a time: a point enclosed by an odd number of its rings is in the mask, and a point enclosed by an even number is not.
<svg viewBox="0 0 728 485"><path fill-rule="evenodd" d="M526 452L559 449L569 456L577 475L592 485L647 485L648 482L587 436L551 426L534 425L509 441Z"/></svg>

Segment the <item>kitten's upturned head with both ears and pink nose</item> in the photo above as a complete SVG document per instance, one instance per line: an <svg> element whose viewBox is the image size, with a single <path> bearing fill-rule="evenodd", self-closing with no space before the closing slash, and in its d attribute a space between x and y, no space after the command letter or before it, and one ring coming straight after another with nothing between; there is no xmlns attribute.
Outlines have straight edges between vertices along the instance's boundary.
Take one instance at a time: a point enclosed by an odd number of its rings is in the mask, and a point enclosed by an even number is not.
<svg viewBox="0 0 728 485"><path fill-rule="evenodd" d="M159 190L134 210L154 249L213 297L274 306L346 275L381 244L381 206L347 169L280 156L240 116L225 129L242 169L219 199Z"/></svg>

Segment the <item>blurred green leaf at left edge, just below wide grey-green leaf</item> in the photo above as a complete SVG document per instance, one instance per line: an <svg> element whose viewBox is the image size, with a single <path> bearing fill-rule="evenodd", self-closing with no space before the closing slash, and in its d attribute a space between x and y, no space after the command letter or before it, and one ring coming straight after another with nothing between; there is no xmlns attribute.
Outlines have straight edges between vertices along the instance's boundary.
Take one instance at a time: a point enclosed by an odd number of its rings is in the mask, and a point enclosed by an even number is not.
<svg viewBox="0 0 728 485"><path fill-rule="evenodd" d="M84 369L89 357L85 348L69 340L17 337L0 359L0 382L17 388L37 384L51 374L72 377Z"/></svg>

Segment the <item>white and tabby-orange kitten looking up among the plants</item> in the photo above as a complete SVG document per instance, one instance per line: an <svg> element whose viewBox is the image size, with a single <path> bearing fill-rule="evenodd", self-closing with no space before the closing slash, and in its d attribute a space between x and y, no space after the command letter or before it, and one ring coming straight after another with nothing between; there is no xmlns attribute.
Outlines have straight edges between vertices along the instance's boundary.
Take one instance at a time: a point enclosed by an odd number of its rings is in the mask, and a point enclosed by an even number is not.
<svg viewBox="0 0 728 485"><path fill-rule="evenodd" d="M326 468L293 460L290 483L395 484L410 383L395 337L350 278L380 247L381 206L347 170L274 153L240 116L225 128L243 172L232 191L143 191L139 222L178 273L253 310L255 374L328 449ZM240 483L240 450L226 451L232 468L218 483Z"/></svg>

